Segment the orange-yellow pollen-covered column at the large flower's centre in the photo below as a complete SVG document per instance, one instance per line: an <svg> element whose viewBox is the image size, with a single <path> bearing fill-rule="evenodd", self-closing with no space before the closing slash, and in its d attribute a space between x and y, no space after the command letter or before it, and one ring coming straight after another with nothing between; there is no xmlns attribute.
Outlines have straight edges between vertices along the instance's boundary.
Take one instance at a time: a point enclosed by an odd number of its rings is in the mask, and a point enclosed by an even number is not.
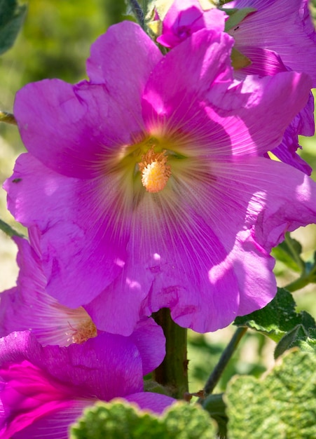
<svg viewBox="0 0 316 439"><path fill-rule="evenodd" d="M138 163L142 173L142 184L149 192L162 191L171 175L171 168L167 165L166 151L155 152L153 147L142 156Z"/></svg>

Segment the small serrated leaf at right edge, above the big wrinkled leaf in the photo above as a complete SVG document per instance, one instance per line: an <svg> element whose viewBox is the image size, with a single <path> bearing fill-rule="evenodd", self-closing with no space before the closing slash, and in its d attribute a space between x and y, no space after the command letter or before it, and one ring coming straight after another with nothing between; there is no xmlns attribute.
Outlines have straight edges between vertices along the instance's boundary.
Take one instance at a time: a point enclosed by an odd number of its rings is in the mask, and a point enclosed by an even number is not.
<svg viewBox="0 0 316 439"><path fill-rule="evenodd" d="M275 358L295 346L298 346L301 351L316 353L316 328L309 328L306 324L296 325L280 339L275 348Z"/></svg>

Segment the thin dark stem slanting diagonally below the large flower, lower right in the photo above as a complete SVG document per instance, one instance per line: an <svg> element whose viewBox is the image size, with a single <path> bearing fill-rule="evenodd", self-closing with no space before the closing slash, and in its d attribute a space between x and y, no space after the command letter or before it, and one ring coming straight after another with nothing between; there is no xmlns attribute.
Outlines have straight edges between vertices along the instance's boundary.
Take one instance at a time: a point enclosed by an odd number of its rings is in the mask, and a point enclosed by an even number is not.
<svg viewBox="0 0 316 439"><path fill-rule="evenodd" d="M235 331L235 334L231 338L231 341L228 343L223 353L221 354L221 358L219 358L219 363L217 363L213 372L209 375L209 379L207 379L204 387L205 396L209 395L209 393L212 393L212 391L214 390L215 386L219 382L221 374L224 372L224 369L228 364L228 361L231 360L233 353L235 352L240 340L245 335L246 331L247 327L238 327ZM202 403L202 398L198 400L198 403Z"/></svg>

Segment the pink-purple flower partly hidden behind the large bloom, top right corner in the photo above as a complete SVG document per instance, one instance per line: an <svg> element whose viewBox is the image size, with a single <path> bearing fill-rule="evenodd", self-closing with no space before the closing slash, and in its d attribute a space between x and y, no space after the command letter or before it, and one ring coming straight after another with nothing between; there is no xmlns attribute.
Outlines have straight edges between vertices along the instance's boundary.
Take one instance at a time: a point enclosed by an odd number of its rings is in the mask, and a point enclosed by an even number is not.
<svg viewBox="0 0 316 439"><path fill-rule="evenodd" d="M283 64L285 68L309 74L312 88L316 87L316 32L308 0L235 0L224 8L226 11L231 8L256 10L228 30L235 40L235 48L252 61L252 65L241 72L260 74L265 70L266 74L274 74ZM298 135L314 133L314 99L310 93L308 107L296 116L284 133L282 143L272 152L280 160L310 175L312 168L296 150L301 148Z"/></svg>

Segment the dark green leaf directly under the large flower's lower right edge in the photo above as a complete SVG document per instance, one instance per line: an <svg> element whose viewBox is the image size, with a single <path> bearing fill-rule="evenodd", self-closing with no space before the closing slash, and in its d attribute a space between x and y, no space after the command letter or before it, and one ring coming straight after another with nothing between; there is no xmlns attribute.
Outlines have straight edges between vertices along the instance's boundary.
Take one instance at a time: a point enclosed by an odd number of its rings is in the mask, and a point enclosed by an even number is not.
<svg viewBox="0 0 316 439"><path fill-rule="evenodd" d="M250 327L275 342L280 342L280 339L296 325L302 325L307 331L316 327L315 320L310 314L305 311L296 313L295 308L296 303L291 293L278 288L277 295L267 306L247 316L236 318L234 325Z"/></svg>

